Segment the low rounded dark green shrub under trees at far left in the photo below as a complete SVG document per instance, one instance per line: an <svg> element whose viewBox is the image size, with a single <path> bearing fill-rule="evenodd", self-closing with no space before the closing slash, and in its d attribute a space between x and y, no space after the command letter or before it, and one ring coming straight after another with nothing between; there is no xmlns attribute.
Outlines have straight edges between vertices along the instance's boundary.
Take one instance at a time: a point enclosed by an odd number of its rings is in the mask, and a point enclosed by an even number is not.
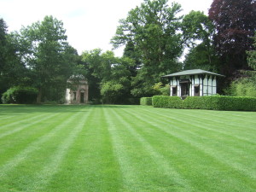
<svg viewBox="0 0 256 192"><path fill-rule="evenodd" d="M12 87L3 93L3 103L34 103L37 100L38 90L33 87Z"/></svg>

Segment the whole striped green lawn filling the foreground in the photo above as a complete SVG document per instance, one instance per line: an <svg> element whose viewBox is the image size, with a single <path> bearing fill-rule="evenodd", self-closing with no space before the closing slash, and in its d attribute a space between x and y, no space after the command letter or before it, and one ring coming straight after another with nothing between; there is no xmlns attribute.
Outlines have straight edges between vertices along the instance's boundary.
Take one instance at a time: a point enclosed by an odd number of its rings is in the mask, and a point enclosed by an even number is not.
<svg viewBox="0 0 256 192"><path fill-rule="evenodd" d="M256 113L0 105L0 191L256 191Z"/></svg>

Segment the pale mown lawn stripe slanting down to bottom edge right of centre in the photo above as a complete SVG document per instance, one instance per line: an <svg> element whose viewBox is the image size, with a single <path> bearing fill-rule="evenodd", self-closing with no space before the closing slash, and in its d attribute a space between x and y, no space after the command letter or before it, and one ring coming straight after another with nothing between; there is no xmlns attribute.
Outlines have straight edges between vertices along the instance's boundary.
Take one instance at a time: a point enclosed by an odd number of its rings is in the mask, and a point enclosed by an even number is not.
<svg viewBox="0 0 256 192"><path fill-rule="evenodd" d="M124 109L122 109L124 111ZM139 141L144 150L148 151L149 156L152 158L152 160L154 161L154 163L157 164L157 166L160 169L160 172L162 174L165 175L165 177L169 177L170 180L173 181L173 183L175 183L175 186L173 186L173 188L177 188L179 189L185 189L185 190L189 190L189 191L194 191L194 189L192 189L191 185L189 184L189 182L184 179L183 177L181 177L181 175L175 170L174 166L171 164L170 165L170 161L166 160L165 156L163 156L162 154L159 154L154 147L148 143L146 141L145 138L143 138L143 136L141 136L136 129L134 129L130 122L125 120L123 118L123 116L125 116L125 113L127 113L127 110L124 111L124 113L117 113L116 111L113 111L113 115L115 117L115 119L118 119L119 122L125 126L125 129L127 129L131 135L133 137L135 137L137 139L137 141ZM134 116L137 117L137 112L133 113Z"/></svg>

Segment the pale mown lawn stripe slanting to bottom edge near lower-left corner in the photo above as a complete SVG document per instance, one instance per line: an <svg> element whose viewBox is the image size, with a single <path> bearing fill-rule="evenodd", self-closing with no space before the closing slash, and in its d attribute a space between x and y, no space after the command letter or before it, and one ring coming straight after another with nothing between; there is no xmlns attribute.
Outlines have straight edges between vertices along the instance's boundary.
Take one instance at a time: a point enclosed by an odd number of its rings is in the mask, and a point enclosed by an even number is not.
<svg viewBox="0 0 256 192"><path fill-rule="evenodd" d="M63 138L63 141L56 148L55 152L49 157L48 162L43 169L37 172L37 175L33 177L30 184L27 186L26 191L44 191L44 188L48 185L55 173L60 171L60 166L68 153L68 149L73 145L74 140L78 137L79 133L83 131L86 120L89 118L92 108L84 113L83 111L73 119L72 131L70 135ZM67 126L67 125L66 125Z"/></svg>

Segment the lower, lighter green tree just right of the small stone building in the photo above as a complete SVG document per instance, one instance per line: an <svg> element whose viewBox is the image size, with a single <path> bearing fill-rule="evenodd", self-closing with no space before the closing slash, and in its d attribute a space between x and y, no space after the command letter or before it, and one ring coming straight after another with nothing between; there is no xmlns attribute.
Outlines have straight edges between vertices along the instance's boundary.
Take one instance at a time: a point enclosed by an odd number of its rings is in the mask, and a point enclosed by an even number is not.
<svg viewBox="0 0 256 192"><path fill-rule="evenodd" d="M84 51L84 66L89 73L90 99L102 99L106 103L124 102L131 94L131 67L128 57L115 57L113 51L102 49Z"/></svg>

